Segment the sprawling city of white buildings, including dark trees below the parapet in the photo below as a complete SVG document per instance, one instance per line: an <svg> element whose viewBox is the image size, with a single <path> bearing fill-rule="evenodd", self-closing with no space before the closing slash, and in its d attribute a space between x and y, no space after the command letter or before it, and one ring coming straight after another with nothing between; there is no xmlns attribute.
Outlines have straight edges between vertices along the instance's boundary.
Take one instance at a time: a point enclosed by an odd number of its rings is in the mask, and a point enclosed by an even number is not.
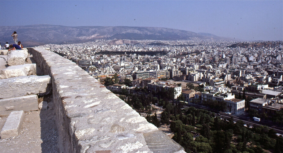
<svg viewBox="0 0 283 153"><path fill-rule="evenodd" d="M282 151L280 41L115 39L40 47L76 62L157 127L170 125L187 152Z"/></svg>

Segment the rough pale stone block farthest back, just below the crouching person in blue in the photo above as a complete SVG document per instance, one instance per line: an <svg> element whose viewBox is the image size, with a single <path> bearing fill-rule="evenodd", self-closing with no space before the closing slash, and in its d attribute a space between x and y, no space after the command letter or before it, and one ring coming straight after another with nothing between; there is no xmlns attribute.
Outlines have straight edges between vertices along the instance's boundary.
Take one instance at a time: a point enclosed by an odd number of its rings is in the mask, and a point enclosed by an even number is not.
<svg viewBox="0 0 283 153"><path fill-rule="evenodd" d="M8 54L7 63L9 66L23 65L27 58L27 50L11 50Z"/></svg>

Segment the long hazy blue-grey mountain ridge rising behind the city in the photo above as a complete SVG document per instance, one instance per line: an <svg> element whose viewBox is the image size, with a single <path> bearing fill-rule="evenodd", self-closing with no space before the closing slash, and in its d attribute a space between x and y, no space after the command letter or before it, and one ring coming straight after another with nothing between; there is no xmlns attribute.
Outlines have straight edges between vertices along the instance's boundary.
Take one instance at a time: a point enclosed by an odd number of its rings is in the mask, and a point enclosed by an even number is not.
<svg viewBox="0 0 283 153"><path fill-rule="evenodd" d="M27 26L0 26L0 42L2 46L8 41L13 43L12 33L16 31L18 41L24 47L34 47L47 43L66 44L84 43L95 39L130 39L130 40L187 40L187 39L217 39L219 37L209 33L195 33L185 30L155 27L104 27L83 26L67 27L61 25L37 24Z"/></svg>

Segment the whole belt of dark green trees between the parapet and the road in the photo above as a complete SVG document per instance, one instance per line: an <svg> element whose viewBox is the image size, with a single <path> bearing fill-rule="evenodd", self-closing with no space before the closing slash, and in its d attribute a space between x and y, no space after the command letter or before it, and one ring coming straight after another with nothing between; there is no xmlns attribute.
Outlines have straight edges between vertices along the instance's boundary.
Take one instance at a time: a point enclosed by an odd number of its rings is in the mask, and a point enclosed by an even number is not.
<svg viewBox="0 0 283 153"><path fill-rule="evenodd" d="M157 127L160 124L170 125L173 140L182 145L186 152L261 153L263 149L283 152L283 137L277 136L273 129L255 125L248 128L249 125L245 127L243 121L234 124L233 118L221 119L207 110L195 107L184 109L180 101L175 104L173 88L151 92L147 88L136 88L120 98L136 110L148 111L148 114L151 114L152 104L162 106L161 121L158 121L156 114L147 115L147 121ZM214 109L221 110L219 106L222 104L212 101L207 105L218 106Z"/></svg>

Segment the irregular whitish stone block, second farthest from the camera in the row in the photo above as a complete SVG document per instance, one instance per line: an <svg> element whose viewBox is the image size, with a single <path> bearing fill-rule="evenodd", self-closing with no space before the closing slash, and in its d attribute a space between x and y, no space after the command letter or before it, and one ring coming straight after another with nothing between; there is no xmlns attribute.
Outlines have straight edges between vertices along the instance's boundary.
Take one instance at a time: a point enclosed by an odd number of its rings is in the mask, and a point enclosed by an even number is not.
<svg viewBox="0 0 283 153"><path fill-rule="evenodd" d="M36 75L36 64L15 65L0 70L0 79L30 75Z"/></svg>

